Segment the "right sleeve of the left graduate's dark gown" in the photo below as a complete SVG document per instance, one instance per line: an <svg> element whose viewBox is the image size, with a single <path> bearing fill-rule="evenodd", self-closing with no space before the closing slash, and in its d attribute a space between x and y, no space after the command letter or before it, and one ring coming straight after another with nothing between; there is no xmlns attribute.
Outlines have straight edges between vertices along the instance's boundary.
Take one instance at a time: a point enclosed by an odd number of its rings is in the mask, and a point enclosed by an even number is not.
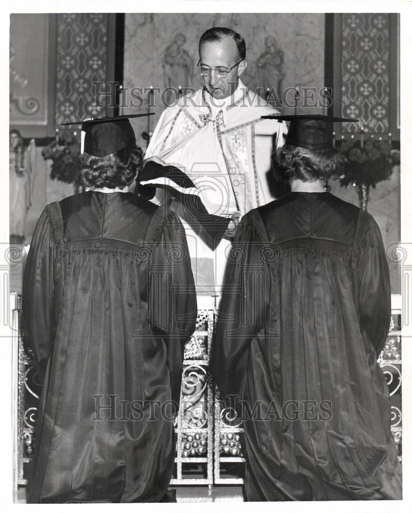
<svg viewBox="0 0 412 513"><path fill-rule="evenodd" d="M196 328L196 291L184 228L168 212L158 230L149 267L149 321L166 342L172 400L178 404L184 345Z"/></svg>

